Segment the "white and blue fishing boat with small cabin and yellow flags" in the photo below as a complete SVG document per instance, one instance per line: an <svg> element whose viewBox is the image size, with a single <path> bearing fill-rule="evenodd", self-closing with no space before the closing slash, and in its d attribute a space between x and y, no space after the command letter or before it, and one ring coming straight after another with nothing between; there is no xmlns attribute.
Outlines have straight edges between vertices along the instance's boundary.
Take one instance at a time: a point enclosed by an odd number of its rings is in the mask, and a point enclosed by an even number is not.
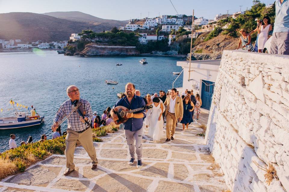
<svg viewBox="0 0 289 192"><path fill-rule="evenodd" d="M0 130L31 127L34 125L40 125L43 122L44 116L29 117L25 115L25 112L16 112L15 117L0 118Z"/></svg>

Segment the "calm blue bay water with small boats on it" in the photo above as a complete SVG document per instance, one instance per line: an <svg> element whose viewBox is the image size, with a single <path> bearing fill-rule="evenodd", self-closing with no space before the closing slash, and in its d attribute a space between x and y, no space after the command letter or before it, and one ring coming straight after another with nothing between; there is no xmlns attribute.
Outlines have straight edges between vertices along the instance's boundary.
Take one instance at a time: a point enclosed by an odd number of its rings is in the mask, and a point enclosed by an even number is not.
<svg viewBox="0 0 289 192"><path fill-rule="evenodd" d="M51 139L51 125L59 106L68 99L68 85L77 85L81 97L100 115L115 104L117 93L124 92L127 82L134 83L143 97L172 88L177 77L172 72L182 71L176 66L180 58L148 56L146 65L138 62L141 58L143 56L86 58L58 55L55 51L0 53L0 108L3 109L0 116L14 116L14 111L7 110L11 108L11 99L26 106L33 105L45 116L45 123L40 126L0 130L0 152L9 149L12 133L16 135L17 145L30 135L33 141L38 141L42 134ZM123 65L116 66L118 62ZM107 85L106 79L119 83ZM182 76L174 86L182 86ZM62 132L66 128L63 124Z"/></svg>

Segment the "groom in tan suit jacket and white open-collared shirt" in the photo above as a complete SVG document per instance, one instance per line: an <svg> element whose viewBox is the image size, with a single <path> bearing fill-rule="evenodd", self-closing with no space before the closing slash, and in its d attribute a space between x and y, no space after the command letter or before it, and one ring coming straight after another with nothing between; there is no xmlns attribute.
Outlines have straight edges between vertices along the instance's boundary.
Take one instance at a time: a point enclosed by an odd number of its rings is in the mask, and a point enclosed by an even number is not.
<svg viewBox="0 0 289 192"><path fill-rule="evenodd" d="M176 95L176 88L171 89L170 96L166 98L166 141L174 140L177 119L183 118L184 108L182 98Z"/></svg>

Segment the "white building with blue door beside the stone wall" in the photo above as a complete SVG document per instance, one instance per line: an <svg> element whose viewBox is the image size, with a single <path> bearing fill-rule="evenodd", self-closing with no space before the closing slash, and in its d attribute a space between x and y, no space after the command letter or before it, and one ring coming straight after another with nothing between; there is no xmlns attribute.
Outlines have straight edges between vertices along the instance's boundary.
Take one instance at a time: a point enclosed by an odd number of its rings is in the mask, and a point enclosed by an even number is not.
<svg viewBox="0 0 289 192"><path fill-rule="evenodd" d="M221 60L198 60L191 61L189 79L189 61L177 61L177 66L183 68L183 85L177 88L183 92L185 89L193 89L194 95L199 94L203 101L202 108L210 110L214 92L214 83L217 79ZM189 80L189 81L188 81Z"/></svg>

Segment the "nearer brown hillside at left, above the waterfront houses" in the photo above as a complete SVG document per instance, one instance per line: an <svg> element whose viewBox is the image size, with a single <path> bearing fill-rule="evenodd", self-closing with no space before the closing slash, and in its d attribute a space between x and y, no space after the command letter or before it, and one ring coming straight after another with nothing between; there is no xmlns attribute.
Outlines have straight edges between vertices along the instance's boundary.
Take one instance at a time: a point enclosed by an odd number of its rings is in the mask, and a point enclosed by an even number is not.
<svg viewBox="0 0 289 192"><path fill-rule="evenodd" d="M106 19L104 19L106 20ZM37 13L1 13L0 39L25 41L64 41L71 33L92 29L95 32L110 30L113 24L91 23L59 19Z"/></svg>

